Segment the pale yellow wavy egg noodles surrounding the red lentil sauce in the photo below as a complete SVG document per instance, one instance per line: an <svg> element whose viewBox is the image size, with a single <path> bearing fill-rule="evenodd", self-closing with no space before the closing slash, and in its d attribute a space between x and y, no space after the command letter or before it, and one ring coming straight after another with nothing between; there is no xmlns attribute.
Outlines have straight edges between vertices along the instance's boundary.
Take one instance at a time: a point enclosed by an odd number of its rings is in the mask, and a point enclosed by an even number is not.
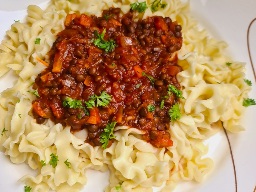
<svg viewBox="0 0 256 192"><path fill-rule="evenodd" d="M145 0L140 2L144 2ZM0 136L0 150L10 156L13 163L25 162L38 169L38 176L23 176L19 181L32 188L31 192L50 189L77 192L86 185L86 170L110 170L106 192L150 192L152 186L161 186L161 192L174 190L181 181L201 182L213 161L202 158L207 147L202 141L209 138L221 125L231 132L244 128L239 124L245 109L242 101L250 87L244 82L245 63L233 62L224 55L225 42L209 38L200 30L189 14L189 2L163 0L165 8L152 13L148 8L138 18L148 16L170 17L182 26L183 45L178 52L178 64L183 71L177 78L182 87L180 100L182 117L170 123L173 146L155 148L142 140L140 130L118 126L114 143L104 150L85 143L86 130L72 134L70 127L47 120L37 124L32 114L32 101L36 98L27 90L46 68L36 60L46 59L58 32L64 30L67 14L85 13L100 16L102 10L120 7L121 14L130 10L136 0L52 0L45 10L28 6L26 23L15 22L6 32L8 38L0 45L0 76L14 70L18 76L12 88L0 96L0 128L7 130ZM147 4L152 3L148 0ZM40 38L40 44L35 44ZM226 63L231 63L228 66ZM51 156L58 156L58 164L49 164ZM70 168L64 163L68 159ZM46 163L42 166L41 161Z"/></svg>

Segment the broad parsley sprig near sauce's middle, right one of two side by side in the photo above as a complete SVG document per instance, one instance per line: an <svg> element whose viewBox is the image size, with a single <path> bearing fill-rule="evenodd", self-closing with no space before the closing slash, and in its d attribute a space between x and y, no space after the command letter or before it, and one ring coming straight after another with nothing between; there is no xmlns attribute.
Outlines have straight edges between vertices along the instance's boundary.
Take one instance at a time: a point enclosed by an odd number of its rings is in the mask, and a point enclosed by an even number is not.
<svg viewBox="0 0 256 192"><path fill-rule="evenodd" d="M88 102L85 102L85 104L87 105L87 108L93 108L95 106L94 101L97 99L97 104L96 106L103 106L106 107L110 101L112 101L111 99L112 95L109 95L106 91L102 91L100 93L100 96L97 96L96 94L91 95L89 98L90 100Z"/></svg>

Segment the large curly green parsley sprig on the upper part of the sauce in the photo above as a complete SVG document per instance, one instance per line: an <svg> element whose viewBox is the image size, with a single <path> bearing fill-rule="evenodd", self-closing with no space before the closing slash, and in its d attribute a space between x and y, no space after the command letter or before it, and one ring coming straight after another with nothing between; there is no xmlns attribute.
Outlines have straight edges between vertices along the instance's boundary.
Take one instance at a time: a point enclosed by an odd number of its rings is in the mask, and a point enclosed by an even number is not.
<svg viewBox="0 0 256 192"><path fill-rule="evenodd" d="M97 39L94 40L93 38L92 42L94 43L95 46L98 46L98 48L105 49L107 53L112 52L114 51L114 48L117 47L117 45L115 44L116 42L113 39L110 39L109 41L105 41L103 39L105 33L106 33L106 29L104 29L101 34L98 34L98 31L95 30L94 35L96 36Z"/></svg>

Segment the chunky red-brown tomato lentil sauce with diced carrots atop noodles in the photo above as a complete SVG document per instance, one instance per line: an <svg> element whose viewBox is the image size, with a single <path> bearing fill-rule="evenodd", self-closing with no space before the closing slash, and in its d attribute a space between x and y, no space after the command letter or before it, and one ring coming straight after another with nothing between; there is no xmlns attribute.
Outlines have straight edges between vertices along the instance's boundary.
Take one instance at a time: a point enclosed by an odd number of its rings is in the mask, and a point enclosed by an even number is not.
<svg viewBox="0 0 256 192"><path fill-rule="evenodd" d="M65 30L58 33L48 53L49 66L33 85L40 95L33 101L39 124L51 118L71 126L72 132L86 128L86 142L101 146L100 134L108 123L117 121L117 126L144 131L143 139L156 147L172 146L168 111L179 100L172 94L164 99L164 108L160 109L160 103L169 84L180 90L176 74L182 68L176 63L176 51L182 46L181 26L161 16L135 22L135 15L130 10L120 17L120 8L110 8L102 17L67 16ZM104 40L115 41L112 52L94 45L95 31L101 34L104 29ZM142 72L154 78L154 86ZM112 101L106 107L90 109L89 116L83 108L63 106L63 100L70 97L86 107L84 102L103 90L112 95ZM148 111L150 104L154 111ZM111 144L112 140L108 147Z"/></svg>

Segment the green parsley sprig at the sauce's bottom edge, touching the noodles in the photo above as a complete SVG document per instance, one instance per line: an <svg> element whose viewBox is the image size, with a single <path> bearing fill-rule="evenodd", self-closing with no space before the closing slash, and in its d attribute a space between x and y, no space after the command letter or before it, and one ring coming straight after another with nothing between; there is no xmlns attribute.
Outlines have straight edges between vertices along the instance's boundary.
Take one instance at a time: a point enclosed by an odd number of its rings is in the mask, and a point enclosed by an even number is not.
<svg viewBox="0 0 256 192"><path fill-rule="evenodd" d="M103 144L101 147L106 149L108 147L108 140L116 138L114 136L114 127L116 126L116 121L109 123L104 128L104 132L100 134L100 142Z"/></svg>

